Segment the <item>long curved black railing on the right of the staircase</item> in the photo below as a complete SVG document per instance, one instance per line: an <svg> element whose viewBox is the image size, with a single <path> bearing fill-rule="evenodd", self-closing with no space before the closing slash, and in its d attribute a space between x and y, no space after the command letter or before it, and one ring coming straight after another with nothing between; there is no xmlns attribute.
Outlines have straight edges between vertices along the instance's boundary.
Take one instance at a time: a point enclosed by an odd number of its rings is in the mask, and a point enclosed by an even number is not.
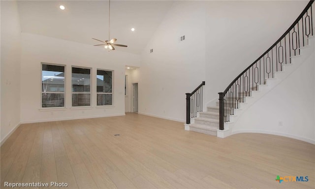
<svg viewBox="0 0 315 189"><path fill-rule="evenodd" d="M219 93L220 130L251 90L265 84L266 78L273 78L275 71L282 71L282 65L291 63L290 57L299 55L300 47L308 44L308 37L314 35L312 6L314 9L314 0L310 0L290 28L265 53L239 74L223 93Z"/></svg>

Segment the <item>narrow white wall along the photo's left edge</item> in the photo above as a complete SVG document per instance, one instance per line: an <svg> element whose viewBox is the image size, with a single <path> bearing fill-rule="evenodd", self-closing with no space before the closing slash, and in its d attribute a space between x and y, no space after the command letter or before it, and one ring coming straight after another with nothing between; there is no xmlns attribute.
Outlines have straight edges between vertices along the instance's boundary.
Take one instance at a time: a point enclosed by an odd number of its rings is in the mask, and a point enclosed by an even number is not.
<svg viewBox="0 0 315 189"><path fill-rule="evenodd" d="M16 1L1 0L1 144L20 123L21 28Z"/></svg>

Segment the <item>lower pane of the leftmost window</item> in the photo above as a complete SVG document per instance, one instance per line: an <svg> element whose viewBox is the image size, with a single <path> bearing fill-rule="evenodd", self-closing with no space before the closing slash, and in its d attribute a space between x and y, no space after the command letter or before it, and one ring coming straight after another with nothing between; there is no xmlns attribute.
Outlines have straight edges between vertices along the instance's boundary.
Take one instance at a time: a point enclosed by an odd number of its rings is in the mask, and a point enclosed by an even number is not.
<svg viewBox="0 0 315 189"><path fill-rule="evenodd" d="M64 94L41 94L41 107L63 107L64 106Z"/></svg>

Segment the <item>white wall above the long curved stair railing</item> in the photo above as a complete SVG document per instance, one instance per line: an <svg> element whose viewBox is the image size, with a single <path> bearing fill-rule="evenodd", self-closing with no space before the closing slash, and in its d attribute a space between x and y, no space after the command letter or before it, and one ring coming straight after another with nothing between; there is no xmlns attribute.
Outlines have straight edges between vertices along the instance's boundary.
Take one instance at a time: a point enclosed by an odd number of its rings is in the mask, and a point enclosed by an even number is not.
<svg viewBox="0 0 315 189"><path fill-rule="evenodd" d="M218 93L276 42L308 2L207 1L205 101L217 101Z"/></svg>

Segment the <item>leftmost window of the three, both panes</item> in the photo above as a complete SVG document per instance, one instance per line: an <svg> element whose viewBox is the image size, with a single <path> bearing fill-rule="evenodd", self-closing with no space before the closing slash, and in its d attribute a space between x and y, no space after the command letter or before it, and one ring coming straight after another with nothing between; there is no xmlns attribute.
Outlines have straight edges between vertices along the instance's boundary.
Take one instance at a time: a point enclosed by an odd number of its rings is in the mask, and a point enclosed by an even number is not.
<svg viewBox="0 0 315 189"><path fill-rule="evenodd" d="M64 107L64 66L42 63L41 107Z"/></svg>

